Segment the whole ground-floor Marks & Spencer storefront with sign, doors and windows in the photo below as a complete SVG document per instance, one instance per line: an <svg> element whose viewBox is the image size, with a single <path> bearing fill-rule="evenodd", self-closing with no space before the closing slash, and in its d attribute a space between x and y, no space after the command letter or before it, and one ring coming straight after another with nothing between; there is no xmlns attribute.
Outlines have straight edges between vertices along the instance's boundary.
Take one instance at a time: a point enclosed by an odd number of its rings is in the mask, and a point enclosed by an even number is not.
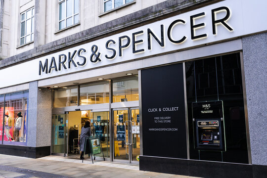
<svg viewBox="0 0 267 178"><path fill-rule="evenodd" d="M189 4L46 46L19 63L3 60L0 76L9 77L0 85L0 153L69 156L77 151L72 133L89 120L108 161L139 160L140 170L188 176L263 177L266 5Z"/></svg>

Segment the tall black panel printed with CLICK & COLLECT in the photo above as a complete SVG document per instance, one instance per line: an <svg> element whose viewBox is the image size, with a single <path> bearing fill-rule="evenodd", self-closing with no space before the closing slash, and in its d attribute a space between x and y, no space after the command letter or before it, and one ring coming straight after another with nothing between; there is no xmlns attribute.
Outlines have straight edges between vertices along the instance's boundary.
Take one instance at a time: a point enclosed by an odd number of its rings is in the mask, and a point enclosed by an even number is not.
<svg viewBox="0 0 267 178"><path fill-rule="evenodd" d="M143 154L187 158L182 63L141 71Z"/></svg>

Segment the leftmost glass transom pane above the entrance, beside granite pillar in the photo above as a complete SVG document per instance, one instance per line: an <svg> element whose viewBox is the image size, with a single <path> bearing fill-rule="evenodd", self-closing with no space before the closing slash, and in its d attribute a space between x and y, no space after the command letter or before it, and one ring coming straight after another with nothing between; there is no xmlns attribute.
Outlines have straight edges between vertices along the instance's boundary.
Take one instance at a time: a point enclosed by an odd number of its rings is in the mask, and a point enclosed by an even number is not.
<svg viewBox="0 0 267 178"><path fill-rule="evenodd" d="M54 90L54 107L78 105L78 87L64 87Z"/></svg>

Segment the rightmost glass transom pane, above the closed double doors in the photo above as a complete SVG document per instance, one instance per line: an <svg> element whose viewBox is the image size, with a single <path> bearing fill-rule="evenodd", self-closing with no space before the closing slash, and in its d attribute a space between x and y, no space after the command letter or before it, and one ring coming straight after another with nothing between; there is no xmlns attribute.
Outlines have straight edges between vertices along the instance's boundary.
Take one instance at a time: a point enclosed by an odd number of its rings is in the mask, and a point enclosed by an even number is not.
<svg viewBox="0 0 267 178"><path fill-rule="evenodd" d="M113 102L138 101L138 77L113 81Z"/></svg>

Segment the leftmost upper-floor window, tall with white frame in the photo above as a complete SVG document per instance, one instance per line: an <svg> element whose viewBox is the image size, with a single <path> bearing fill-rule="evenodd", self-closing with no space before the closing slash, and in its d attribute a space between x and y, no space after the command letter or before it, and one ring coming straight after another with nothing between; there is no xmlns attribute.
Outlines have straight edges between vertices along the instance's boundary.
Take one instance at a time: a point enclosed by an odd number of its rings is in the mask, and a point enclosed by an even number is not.
<svg viewBox="0 0 267 178"><path fill-rule="evenodd" d="M20 14L20 45L34 41L34 7Z"/></svg>

